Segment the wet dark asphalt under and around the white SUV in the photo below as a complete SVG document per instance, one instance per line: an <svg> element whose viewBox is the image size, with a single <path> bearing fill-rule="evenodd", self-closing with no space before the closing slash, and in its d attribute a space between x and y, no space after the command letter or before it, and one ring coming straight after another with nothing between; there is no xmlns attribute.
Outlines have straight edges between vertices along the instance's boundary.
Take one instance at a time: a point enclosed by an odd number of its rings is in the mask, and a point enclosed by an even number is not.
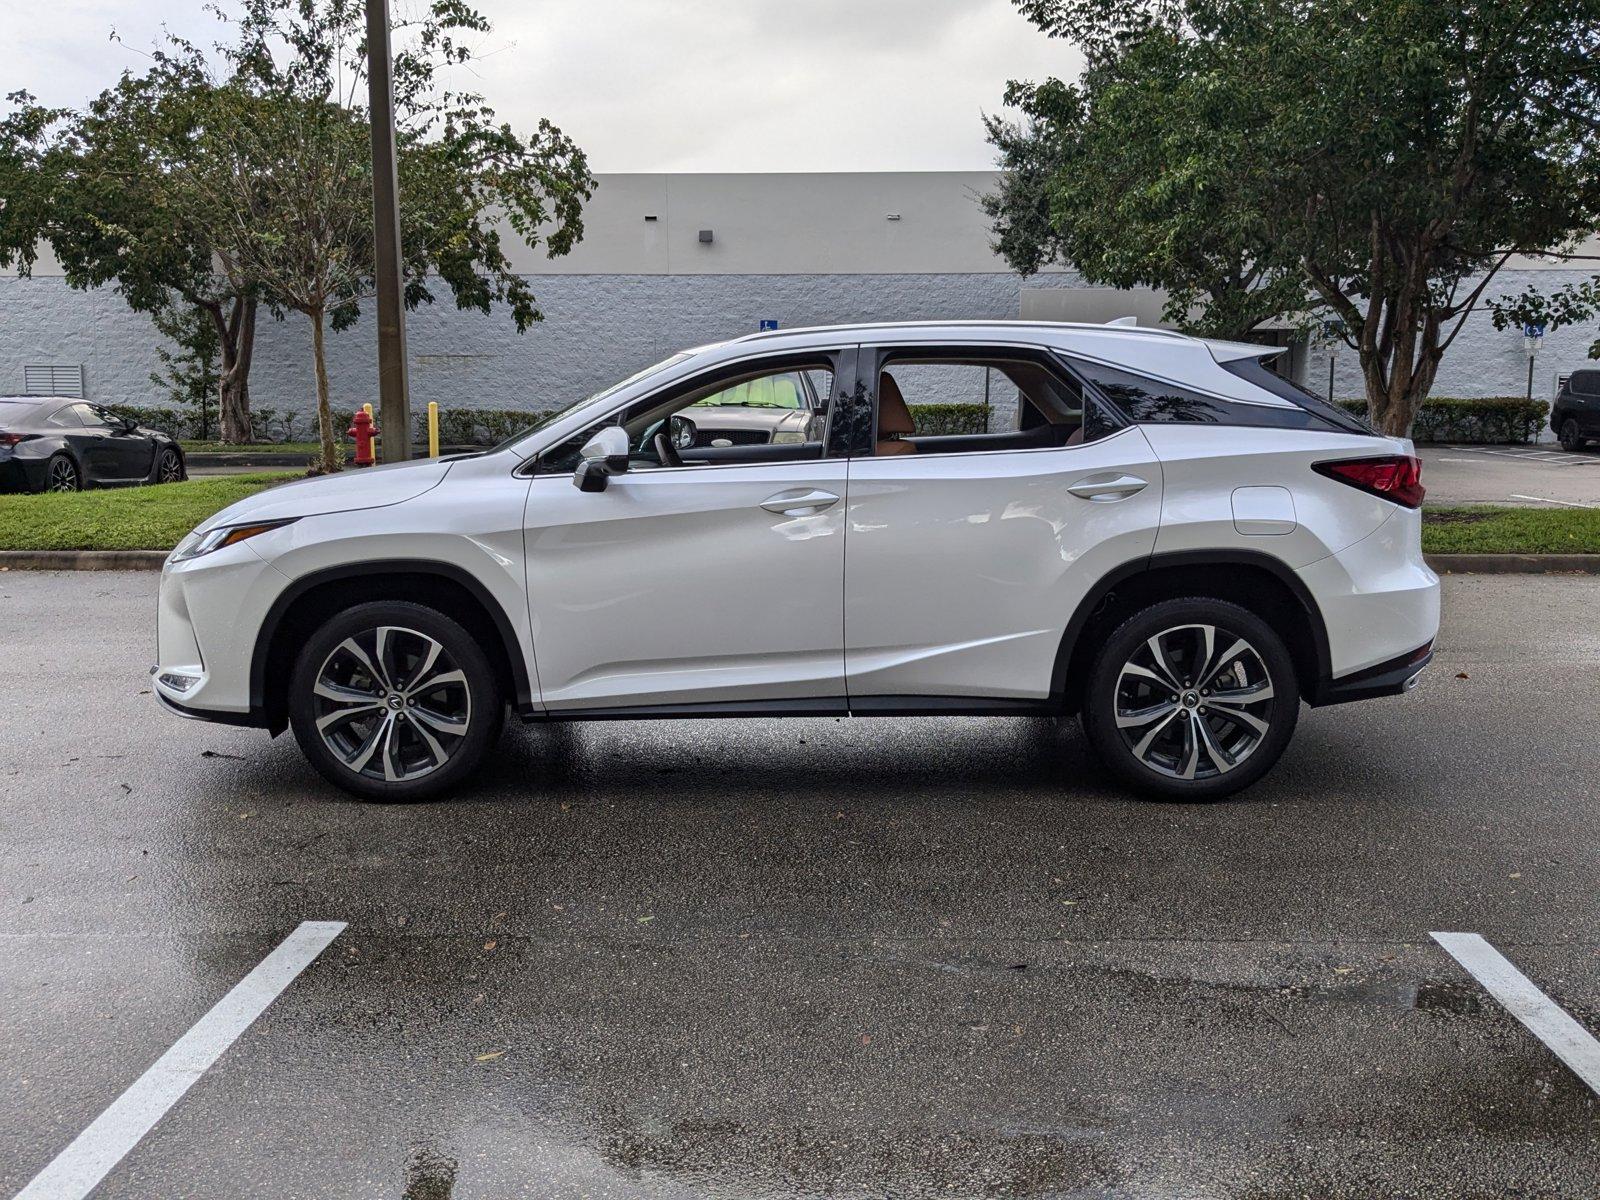
<svg viewBox="0 0 1600 1200"><path fill-rule="evenodd" d="M1070 723L509 726L448 803L144 694L154 574L0 574L0 1197L346 922L94 1197L1589 1197L1600 579L1216 806Z"/></svg>

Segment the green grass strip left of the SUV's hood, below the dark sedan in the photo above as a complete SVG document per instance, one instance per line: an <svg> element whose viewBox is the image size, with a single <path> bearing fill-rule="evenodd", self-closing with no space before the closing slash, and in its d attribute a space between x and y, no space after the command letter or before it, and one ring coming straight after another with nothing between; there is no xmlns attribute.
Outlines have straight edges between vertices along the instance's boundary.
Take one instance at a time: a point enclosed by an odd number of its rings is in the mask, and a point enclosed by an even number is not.
<svg viewBox="0 0 1600 1200"><path fill-rule="evenodd" d="M0 496L0 550L170 550L218 509L298 472Z"/></svg>

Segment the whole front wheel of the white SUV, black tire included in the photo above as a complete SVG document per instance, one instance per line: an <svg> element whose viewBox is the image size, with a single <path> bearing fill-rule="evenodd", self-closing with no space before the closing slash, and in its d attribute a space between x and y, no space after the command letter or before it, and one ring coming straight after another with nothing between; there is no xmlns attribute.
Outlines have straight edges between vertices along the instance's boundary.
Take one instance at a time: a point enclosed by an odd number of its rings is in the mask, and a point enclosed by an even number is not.
<svg viewBox="0 0 1600 1200"><path fill-rule="evenodd" d="M387 630L382 658L379 630ZM424 677L429 643L438 651ZM430 688L429 680L440 677L450 682ZM318 693L318 680L339 698ZM358 693L374 699L355 699ZM390 803L427 800L461 784L506 722L499 678L477 638L437 610L398 600L355 605L312 634L290 675L288 710L294 739L328 782ZM325 736L318 720L328 717L336 718ZM458 725L464 733L453 733Z"/></svg>

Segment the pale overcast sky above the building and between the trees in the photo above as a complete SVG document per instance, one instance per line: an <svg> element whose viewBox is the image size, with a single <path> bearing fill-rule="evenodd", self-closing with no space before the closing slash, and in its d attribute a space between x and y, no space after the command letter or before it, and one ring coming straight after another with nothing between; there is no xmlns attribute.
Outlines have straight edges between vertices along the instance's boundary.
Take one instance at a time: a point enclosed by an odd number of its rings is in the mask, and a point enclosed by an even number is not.
<svg viewBox="0 0 1600 1200"><path fill-rule="evenodd" d="M221 0L224 6L229 0ZM397 11L413 0L392 0ZM0 0L0 93L78 106L139 69L165 22L210 40L202 0ZM1077 54L1010 0L478 0L475 86L514 125L549 117L595 171L914 171L992 165L982 112L1008 78ZM109 40L115 27L126 45Z"/></svg>

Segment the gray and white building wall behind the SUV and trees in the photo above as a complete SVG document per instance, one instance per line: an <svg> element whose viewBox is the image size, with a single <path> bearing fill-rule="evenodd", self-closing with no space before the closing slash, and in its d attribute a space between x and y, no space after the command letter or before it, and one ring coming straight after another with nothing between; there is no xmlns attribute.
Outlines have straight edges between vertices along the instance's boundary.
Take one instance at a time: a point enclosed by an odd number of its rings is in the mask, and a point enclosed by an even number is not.
<svg viewBox="0 0 1600 1200"><path fill-rule="evenodd" d="M1021 280L989 248L978 197L989 173L618 174L602 176L584 214L587 235L563 259L517 246L546 320L518 334L506 312L461 312L440 286L408 318L413 402L542 408L584 395L672 350L782 326L918 318L1158 318L1149 291L1085 288L1070 272ZM654 218L646 221L646 218ZM712 242L699 240L710 229ZM1586 278L1517 259L1491 294ZM1534 395L1584 362L1594 331L1546 338ZM158 403L149 318L112 290L66 286L45 256L27 280L0 277L0 394L22 390L22 368L85 366L91 398ZM373 314L331 334L331 382L341 408L376 400ZM1328 355L1296 354L1302 382L1326 387ZM1526 357L1517 333L1478 312L1445 357L1440 395L1520 395ZM1336 395L1362 395L1354 352L1334 357ZM304 318L262 317L251 394L258 406L315 410L310 330ZM309 430L302 419L299 429Z"/></svg>

